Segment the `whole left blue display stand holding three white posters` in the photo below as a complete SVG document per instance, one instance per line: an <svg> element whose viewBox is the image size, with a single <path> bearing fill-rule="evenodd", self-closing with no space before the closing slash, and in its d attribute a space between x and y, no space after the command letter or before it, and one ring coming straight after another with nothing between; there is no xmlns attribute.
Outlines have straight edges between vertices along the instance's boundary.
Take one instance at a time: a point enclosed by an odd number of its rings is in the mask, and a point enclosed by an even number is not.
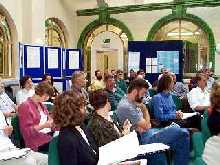
<svg viewBox="0 0 220 165"><path fill-rule="evenodd" d="M64 49L19 43L20 78L30 75L34 83L42 80L45 73L54 78L54 86L66 90L67 82L76 70L83 69L80 49Z"/></svg>

